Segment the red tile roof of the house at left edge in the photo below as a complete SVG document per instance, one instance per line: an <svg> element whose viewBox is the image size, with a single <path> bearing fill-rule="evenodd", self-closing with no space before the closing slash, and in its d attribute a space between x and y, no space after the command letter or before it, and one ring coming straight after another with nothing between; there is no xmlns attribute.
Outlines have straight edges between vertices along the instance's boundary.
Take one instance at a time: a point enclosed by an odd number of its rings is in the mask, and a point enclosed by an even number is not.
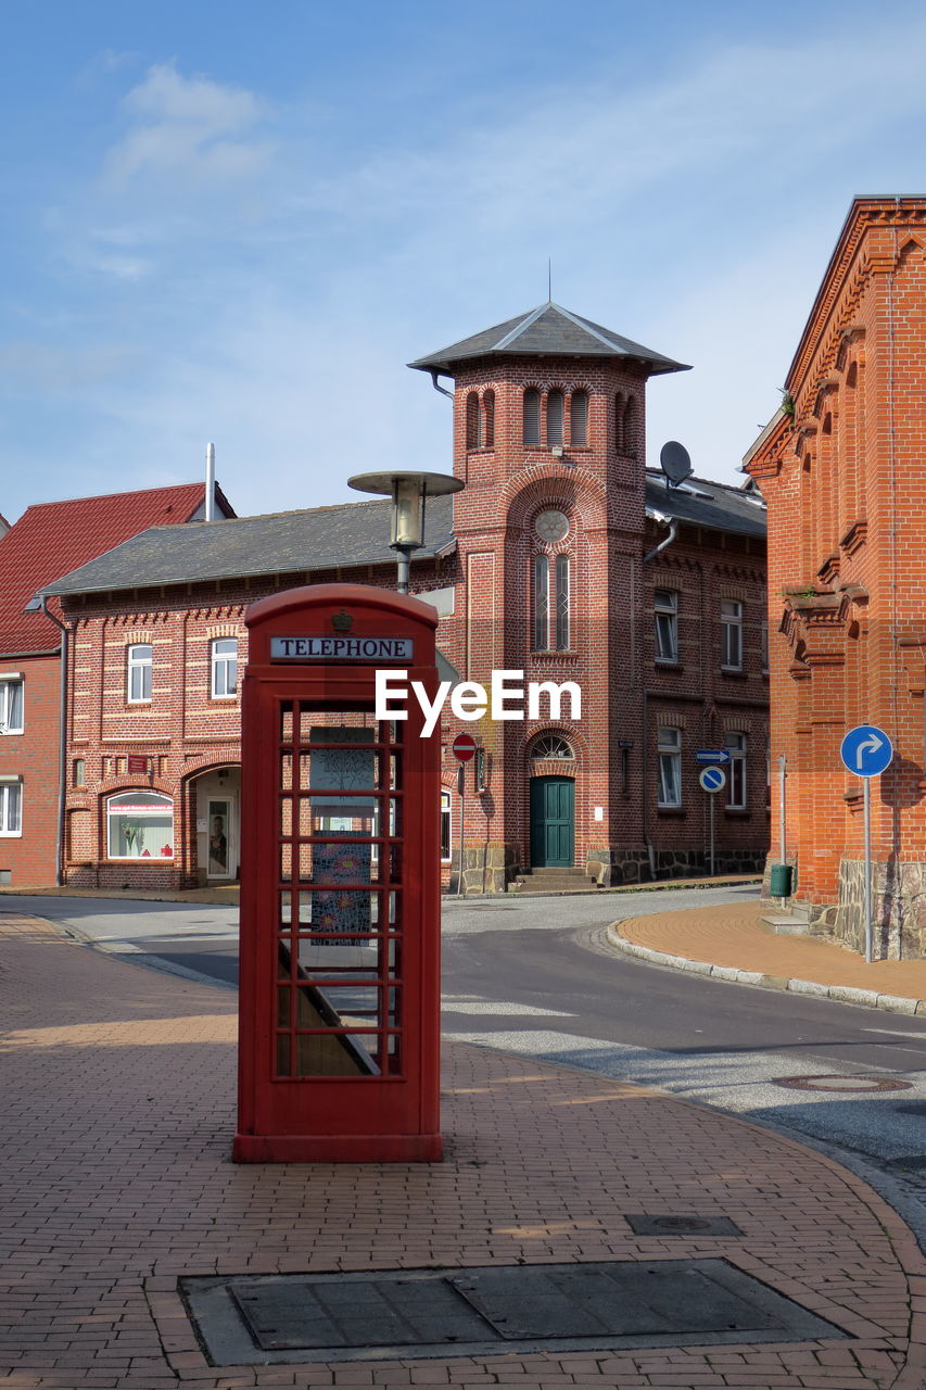
<svg viewBox="0 0 926 1390"><path fill-rule="evenodd" d="M184 482L28 507L0 537L0 656L54 651L54 623L43 613L24 613L36 589L147 527L188 521L204 492L204 482Z"/></svg>

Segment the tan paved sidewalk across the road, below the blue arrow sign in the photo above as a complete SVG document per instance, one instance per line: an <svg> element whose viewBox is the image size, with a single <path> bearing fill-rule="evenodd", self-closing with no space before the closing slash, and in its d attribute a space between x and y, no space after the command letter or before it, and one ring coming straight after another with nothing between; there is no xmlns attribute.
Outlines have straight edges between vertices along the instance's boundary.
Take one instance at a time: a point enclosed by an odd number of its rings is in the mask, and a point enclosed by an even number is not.
<svg viewBox="0 0 926 1390"><path fill-rule="evenodd" d="M781 986L791 979L865 990L898 1001L897 1008L901 999L911 999L913 1008L902 1012L926 1013L926 960L872 960L869 965L865 956L820 937L776 935L762 926L766 912L767 908L756 902L690 908L628 917L617 923L615 933L648 951L758 972ZM919 1009L915 1008L918 1001L923 1001Z"/></svg>

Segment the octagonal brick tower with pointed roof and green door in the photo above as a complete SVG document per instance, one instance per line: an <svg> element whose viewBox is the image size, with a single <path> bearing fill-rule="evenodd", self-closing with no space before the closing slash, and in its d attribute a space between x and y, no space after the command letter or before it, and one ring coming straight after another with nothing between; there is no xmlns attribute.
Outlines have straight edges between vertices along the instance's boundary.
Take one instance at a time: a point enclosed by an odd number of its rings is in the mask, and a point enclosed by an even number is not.
<svg viewBox="0 0 926 1390"><path fill-rule="evenodd" d="M684 366L548 302L420 357L455 379L456 607L442 645L466 680L574 681L556 716L469 724L466 885L642 852L620 745L640 745L634 682L645 527L645 388ZM453 731L455 721L450 720ZM460 726L463 727L463 726ZM624 785L619 780L624 778Z"/></svg>

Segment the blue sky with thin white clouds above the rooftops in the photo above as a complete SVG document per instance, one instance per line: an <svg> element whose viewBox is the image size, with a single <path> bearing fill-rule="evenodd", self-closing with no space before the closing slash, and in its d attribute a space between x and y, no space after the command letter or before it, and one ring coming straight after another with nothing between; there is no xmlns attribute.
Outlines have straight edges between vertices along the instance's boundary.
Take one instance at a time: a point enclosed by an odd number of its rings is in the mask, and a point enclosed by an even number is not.
<svg viewBox="0 0 926 1390"><path fill-rule="evenodd" d="M548 297L740 482L856 195L926 190L894 0L6 0L0 513L188 482L238 514L450 471L406 363Z"/></svg>

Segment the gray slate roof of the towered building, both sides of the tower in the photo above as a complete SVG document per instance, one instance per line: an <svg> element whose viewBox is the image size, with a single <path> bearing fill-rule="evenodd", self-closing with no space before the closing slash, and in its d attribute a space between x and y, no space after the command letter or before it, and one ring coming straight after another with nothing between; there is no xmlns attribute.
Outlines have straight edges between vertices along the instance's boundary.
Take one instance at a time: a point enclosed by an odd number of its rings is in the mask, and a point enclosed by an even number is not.
<svg viewBox="0 0 926 1390"><path fill-rule="evenodd" d="M666 489L658 470L647 471L647 513L679 517L691 525L736 535L765 537L765 507L736 486L688 480L709 496ZM345 502L306 512L277 512L228 521L152 527L79 570L56 580L43 594L99 594L111 589L160 588L210 580L306 570L395 566L389 549L389 499ZM413 559L428 559L453 548L453 498L428 499L425 545Z"/></svg>

